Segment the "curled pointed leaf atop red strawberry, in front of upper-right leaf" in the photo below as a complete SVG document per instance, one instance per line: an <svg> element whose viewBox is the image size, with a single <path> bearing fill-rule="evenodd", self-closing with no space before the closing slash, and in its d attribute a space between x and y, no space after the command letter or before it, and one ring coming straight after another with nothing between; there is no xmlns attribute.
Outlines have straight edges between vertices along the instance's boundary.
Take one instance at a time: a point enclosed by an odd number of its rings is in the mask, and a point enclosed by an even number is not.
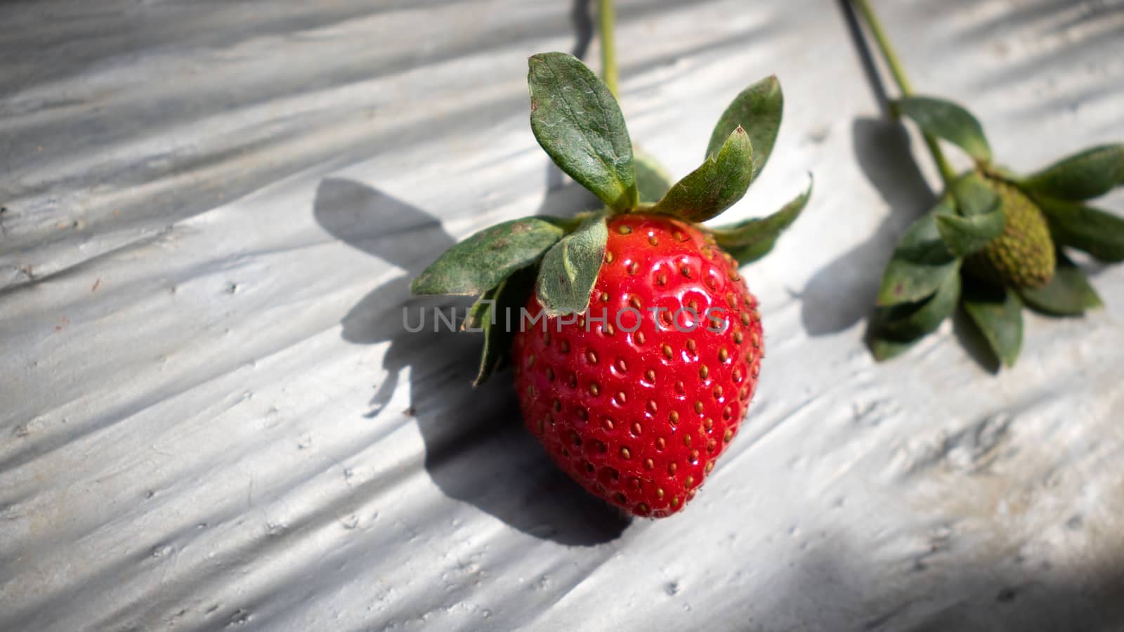
<svg viewBox="0 0 1124 632"><path fill-rule="evenodd" d="M741 127L701 166L676 182L652 207L651 213L670 215L686 222L716 217L742 199L753 180L753 148Z"/></svg>

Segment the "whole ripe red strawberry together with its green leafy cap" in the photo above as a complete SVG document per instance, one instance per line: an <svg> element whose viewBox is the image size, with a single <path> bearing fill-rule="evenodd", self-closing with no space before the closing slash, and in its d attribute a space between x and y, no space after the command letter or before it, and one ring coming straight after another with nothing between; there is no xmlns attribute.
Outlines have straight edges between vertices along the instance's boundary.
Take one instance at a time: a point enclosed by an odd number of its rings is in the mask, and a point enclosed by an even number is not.
<svg viewBox="0 0 1124 632"><path fill-rule="evenodd" d="M524 422L590 493L661 517L695 497L745 417L761 370L758 301L737 272L764 256L812 190L764 217L709 228L772 151L776 78L746 88L707 157L671 183L634 155L611 92L577 58L531 58L531 127L606 207L480 231L414 280L415 294L480 295L477 383L506 356Z"/></svg>

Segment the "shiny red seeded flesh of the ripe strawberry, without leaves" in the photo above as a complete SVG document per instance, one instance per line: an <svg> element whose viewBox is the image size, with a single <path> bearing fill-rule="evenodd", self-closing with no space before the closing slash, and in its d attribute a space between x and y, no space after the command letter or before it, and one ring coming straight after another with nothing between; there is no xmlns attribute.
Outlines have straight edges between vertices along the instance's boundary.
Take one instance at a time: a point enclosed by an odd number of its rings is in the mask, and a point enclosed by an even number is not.
<svg viewBox="0 0 1124 632"><path fill-rule="evenodd" d="M528 319L516 334L516 388L527 427L574 480L633 514L667 516L695 496L753 397L758 303L695 226L620 215L608 227L586 316ZM527 310L538 315L536 296Z"/></svg>

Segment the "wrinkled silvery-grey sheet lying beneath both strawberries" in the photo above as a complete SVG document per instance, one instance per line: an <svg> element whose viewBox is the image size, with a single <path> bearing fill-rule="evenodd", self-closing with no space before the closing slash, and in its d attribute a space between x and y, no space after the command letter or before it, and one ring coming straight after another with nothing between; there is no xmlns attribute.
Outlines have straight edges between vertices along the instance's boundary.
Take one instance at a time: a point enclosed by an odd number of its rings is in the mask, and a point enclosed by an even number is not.
<svg viewBox="0 0 1124 632"><path fill-rule="evenodd" d="M1010 166L1121 139L1120 2L878 4ZM589 204L527 125L529 54L597 58L571 3L0 16L0 629L1124 628L1124 268L1080 260L1106 308L1028 316L1014 370L959 318L876 364L863 319L935 173L839 3L618 4L638 144L687 173L777 73L728 216L816 178L745 272L745 432L656 522L560 475L505 376L470 387L475 336L401 327L465 307L407 292L455 240Z"/></svg>

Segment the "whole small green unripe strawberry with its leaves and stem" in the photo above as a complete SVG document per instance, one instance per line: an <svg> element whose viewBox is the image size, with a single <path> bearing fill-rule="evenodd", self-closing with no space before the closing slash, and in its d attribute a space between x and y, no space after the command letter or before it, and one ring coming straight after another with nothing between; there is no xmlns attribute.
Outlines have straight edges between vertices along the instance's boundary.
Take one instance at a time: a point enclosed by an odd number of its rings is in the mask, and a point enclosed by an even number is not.
<svg viewBox="0 0 1124 632"><path fill-rule="evenodd" d="M1085 204L1124 187L1124 143L1082 150L1031 174L1004 168L972 112L910 93L873 10L865 0L854 7L901 89L891 114L921 127L945 186L933 208L898 240L886 265L871 351L878 360L901 354L959 306L991 352L984 363L1012 367L1023 343L1024 306L1052 316L1103 306L1067 251L1124 261L1124 217ZM962 150L971 170L957 174L942 143Z"/></svg>

